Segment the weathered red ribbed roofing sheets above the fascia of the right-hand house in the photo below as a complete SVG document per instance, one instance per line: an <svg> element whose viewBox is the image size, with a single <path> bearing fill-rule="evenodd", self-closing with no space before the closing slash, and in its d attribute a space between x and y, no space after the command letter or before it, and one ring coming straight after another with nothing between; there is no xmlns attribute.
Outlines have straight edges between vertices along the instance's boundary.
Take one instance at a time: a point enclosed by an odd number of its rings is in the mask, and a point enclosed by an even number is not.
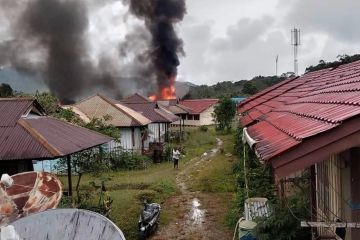
<svg viewBox="0 0 360 240"><path fill-rule="evenodd" d="M302 83L291 87L299 81ZM253 99L242 105L240 110L247 111L242 121L249 126L249 135L257 141L255 150L263 160L272 160L295 146L301 146L305 140L311 141L325 132L331 133L360 116L360 61L314 72L311 76L305 74L273 88L262 97L265 95L275 98L266 97L267 101ZM283 100L281 104L276 103L280 102L279 99ZM258 122L249 125L254 120ZM324 144L336 139L334 135Z"/></svg>

